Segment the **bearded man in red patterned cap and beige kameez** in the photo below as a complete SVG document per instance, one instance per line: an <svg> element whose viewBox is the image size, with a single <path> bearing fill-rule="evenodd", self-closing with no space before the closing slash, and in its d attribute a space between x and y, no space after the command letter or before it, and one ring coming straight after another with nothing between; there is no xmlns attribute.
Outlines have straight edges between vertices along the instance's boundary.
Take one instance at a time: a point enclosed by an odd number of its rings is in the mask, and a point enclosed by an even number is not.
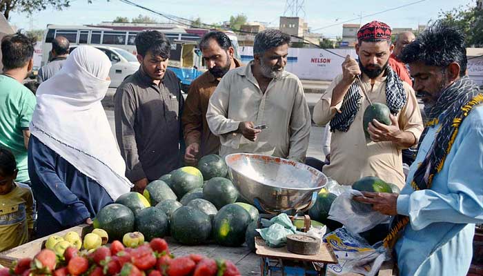
<svg viewBox="0 0 483 276"><path fill-rule="evenodd" d="M336 77L314 108L316 124L330 122L331 164L324 173L339 184L352 185L362 177L374 176L404 186L402 153L417 144L423 126L413 88L401 81L388 66L391 55L391 28L373 21L357 32L355 51L359 61L347 56L342 75ZM359 75L362 81L357 78ZM372 103L384 103L391 110L391 126L373 120L366 141L363 115Z"/></svg>

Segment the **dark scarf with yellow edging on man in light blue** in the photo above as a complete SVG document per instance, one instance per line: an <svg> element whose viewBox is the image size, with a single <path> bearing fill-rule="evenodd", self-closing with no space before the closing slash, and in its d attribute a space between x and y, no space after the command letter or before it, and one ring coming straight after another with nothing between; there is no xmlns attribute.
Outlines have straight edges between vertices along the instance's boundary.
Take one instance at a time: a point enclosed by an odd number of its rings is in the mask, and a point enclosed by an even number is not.
<svg viewBox="0 0 483 276"><path fill-rule="evenodd" d="M420 144L423 141L429 127L441 123L440 131L437 132L433 146L428 151L424 161L418 166L411 186L414 190L424 190L431 188L434 176L440 172L444 166L444 160L451 150L455 141L458 128L462 121L468 116L473 106L483 103L483 93L478 86L465 76L458 79L451 86L446 88L437 103L428 111L428 123L420 137ZM440 115L443 116L440 118ZM441 121L439 121L441 119ZM400 236L404 226L408 224L409 218L397 215L391 222L391 231L384 239L386 247L393 247L397 238Z"/></svg>

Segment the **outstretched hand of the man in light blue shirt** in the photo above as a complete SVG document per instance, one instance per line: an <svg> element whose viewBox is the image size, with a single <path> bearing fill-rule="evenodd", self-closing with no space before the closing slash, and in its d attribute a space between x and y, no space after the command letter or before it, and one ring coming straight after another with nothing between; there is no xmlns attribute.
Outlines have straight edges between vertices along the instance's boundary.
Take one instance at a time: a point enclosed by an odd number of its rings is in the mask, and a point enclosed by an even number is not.
<svg viewBox="0 0 483 276"><path fill-rule="evenodd" d="M372 204L373 210L384 215L397 215L397 193L369 193L361 192L363 197L353 197L355 201Z"/></svg>

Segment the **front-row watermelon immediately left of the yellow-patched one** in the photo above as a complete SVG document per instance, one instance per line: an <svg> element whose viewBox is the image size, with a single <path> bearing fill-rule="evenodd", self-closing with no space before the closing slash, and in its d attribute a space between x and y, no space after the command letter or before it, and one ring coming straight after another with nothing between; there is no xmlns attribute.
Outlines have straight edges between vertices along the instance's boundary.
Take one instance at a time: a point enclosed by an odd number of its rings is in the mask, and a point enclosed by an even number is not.
<svg viewBox="0 0 483 276"><path fill-rule="evenodd" d="M171 215L171 236L180 244L203 244L211 234L211 219L193 206L181 206Z"/></svg>

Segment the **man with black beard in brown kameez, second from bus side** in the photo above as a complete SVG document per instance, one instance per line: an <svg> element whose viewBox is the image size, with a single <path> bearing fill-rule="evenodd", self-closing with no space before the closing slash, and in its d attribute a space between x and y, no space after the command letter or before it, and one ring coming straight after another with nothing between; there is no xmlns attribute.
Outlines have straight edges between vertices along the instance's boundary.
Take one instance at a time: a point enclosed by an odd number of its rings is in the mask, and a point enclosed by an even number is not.
<svg viewBox="0 0 483 276"><path fill-rule="evenodd" d="M233 57L235 49L224 32L208 32L201 39L199 48L208 71L191 83L181 117L186 143L184 163L191 166L205 155L218 154L219 138L210 132L206 121L208 101L221 77L228 70L242 65Z"/></svg>

